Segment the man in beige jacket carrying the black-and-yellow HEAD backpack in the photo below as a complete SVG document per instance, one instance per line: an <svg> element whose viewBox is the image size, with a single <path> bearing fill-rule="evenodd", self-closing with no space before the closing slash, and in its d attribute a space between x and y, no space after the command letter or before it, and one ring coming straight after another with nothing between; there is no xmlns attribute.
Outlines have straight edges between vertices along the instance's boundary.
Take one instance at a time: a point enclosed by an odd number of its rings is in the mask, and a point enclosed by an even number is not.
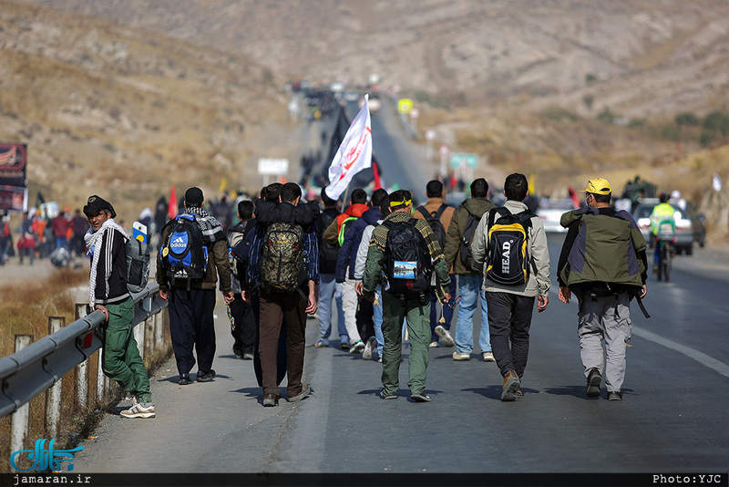
<svg viewBox="0 0 729 487"><path fill-rule="evenodd" d="M527 177L509 174L504 194L504 207L481 217L471 253L483 269L491 347L504 378L501 400L513 401L522 397L534 298L539 313L549 303L549 248L544 225L524 204Z"/></svg>

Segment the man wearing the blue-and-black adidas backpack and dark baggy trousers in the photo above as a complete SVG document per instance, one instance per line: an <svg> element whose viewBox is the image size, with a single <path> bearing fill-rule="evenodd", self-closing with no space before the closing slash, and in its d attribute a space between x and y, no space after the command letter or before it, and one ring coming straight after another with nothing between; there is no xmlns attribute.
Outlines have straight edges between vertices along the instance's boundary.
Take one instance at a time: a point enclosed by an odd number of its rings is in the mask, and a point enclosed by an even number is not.
<svg viewBox="0 0 729 487"><path fill-rule="evenodd" d="M221 223L202 209L200 188L185 192L184 212L162 229L157 257L159 295L169 301L169 332L179 383L191 383L197 353L198 382L215 378L215 285L220 276L226 305L233 300L228 242Z"/></svg>

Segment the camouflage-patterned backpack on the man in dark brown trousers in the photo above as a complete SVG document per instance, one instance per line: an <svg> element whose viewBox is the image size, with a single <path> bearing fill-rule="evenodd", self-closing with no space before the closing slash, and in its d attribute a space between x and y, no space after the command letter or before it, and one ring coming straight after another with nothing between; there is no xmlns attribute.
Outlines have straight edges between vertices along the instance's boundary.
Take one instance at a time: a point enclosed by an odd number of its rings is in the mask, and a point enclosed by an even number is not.
<svg viewBox="0 0 729 487"><path fill-rule="evenodd" d="M266 229L261 254L261 285L269 293L295 293L305 281L303 230L292 223Z"/></svg>

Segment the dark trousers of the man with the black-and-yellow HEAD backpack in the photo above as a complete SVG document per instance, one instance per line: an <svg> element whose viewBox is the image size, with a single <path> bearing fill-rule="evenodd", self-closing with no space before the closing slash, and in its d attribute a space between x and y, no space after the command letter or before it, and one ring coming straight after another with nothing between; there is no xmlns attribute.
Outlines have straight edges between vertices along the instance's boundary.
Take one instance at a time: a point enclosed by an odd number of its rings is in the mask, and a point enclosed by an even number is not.
<svg viewBox="0 0 729 487"><path fill-rule="evenodd" d="M491 350L502 376L513 368L521 378L527 368L534 299L511 293L486 293Z"/></svg>

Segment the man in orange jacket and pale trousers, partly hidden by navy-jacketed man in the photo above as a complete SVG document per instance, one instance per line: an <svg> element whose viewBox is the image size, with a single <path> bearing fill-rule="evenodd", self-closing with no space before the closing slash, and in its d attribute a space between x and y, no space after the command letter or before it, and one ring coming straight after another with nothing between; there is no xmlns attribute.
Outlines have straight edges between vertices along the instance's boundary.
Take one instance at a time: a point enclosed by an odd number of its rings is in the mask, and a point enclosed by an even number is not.
<svg viewBox="0 0 729 487"><path fill-rule="evenodd" d="M362 189L356 189L350 197L352 204L344 210L342 214L336 217L329 227L324 230L323 239L329 244L344 244L344 236L352 228L354 222L359 219L364 212L369 210L367 205L367 193ZM342 285L342 306L344 306L344 326L347 328L349 343L342 343L342 349L352 348L353 352L361 352L364 350L364 342L359 336L357 330L356 313L357 313L357 293L354 290L354 280L347 280L344 273L337 276L337 283Z"/></svg>

